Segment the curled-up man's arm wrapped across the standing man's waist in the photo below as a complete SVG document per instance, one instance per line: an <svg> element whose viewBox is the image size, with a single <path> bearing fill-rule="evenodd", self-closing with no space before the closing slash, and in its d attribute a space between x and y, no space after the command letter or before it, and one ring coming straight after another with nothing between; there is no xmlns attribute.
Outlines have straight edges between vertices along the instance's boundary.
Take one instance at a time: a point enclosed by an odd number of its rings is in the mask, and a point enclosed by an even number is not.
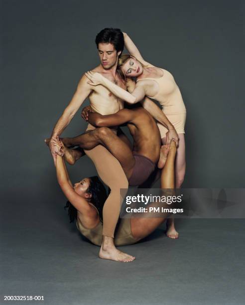
<svg viewBox="0 0 245 305"><path fill-rule="evenodd" d="M134 112L129 109L122 109L115 114L103 116L96 112L90 112L88 121L97 127L114 127L133 120Z"/></svg>

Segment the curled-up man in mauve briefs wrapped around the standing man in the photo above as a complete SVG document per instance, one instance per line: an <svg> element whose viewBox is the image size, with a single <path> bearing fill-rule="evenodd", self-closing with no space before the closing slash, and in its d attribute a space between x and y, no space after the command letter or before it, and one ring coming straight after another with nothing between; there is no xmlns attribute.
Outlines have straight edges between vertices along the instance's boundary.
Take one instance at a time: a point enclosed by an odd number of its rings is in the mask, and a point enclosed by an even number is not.
<svg viewBox="0 0 245 305"><path fill-rule="evenodd" d="M155 120L142 107L135 109L122 109L116 114L101 115L90 113L89 123L99 127L89 133L74 138L63 138L66 147L79 146L82 149L93 149L101 144L108 149L120 162L128 179L129 185L137 186L145 182L154 171L155 165L166 162L167 151L161 154L159 160L161 141L159 128ZM125 144L108 127L127 123L133 138L133 150ZM74 164L83 155L80 150L66 150L65 158Z"/></svg>

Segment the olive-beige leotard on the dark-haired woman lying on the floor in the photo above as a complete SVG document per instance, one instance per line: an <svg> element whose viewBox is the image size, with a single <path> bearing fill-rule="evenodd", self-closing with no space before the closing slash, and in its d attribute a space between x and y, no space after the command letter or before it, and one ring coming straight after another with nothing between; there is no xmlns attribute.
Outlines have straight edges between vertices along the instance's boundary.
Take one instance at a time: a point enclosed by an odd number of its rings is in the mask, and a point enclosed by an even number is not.
<svg viewBox="0 0 245 305"><path fill-rule="evenodd" d="M85 228L80 219L77 219L77 228L82 235L97 246L102 244L103 224L101 222L93 229ZM134 238L131 233L130 218L120 218L115 231L114 243L116 246L135 244L138 239Z"/></svg>

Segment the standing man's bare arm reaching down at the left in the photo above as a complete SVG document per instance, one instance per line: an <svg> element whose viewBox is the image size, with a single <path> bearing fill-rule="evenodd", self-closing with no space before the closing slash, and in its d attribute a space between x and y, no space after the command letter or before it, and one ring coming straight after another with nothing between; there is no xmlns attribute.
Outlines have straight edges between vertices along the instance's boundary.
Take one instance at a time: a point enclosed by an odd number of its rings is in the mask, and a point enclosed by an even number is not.
<svg viewBox="0 0 245 305"><path fill-rule="evenodd" d="M86 76L83 76L77 86L77 90L70 101L69 105L64 110L62 116L59 118L58 122L56 123L51 138L57 139L57 136L60 136L61 133L64 131L64 129L68 126L68 124L71 122L72 118L76 114L79 107L83 104L85 99L90 95L92 92L92 86L90 86L87 83ZM57 147L52 145L52 142L50 141L49 148L51 151L51 154L54 159L54 163L56 161L56 155L61 153L57 150Z"/></svg>

